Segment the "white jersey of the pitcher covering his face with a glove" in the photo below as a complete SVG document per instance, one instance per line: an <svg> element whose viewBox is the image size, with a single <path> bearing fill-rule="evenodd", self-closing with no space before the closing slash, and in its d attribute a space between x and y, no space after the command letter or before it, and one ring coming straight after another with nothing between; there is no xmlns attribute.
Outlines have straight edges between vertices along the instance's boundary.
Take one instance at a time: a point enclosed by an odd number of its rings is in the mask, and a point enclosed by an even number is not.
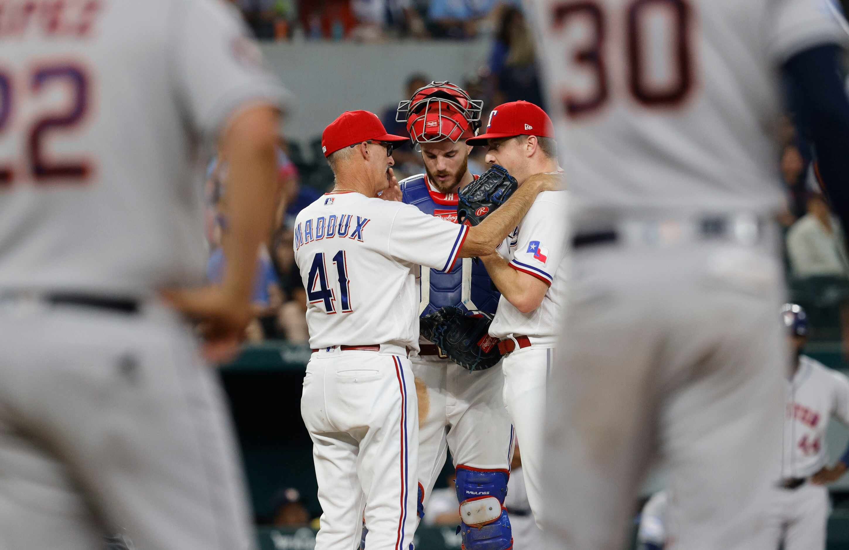
<svg viewBox="0 0 849 550"><path fill-rule="evenodd" d="M509 234L510 267L543 281L550 288L543 296L543 303L530 313L522 313L501 296L490 335L501 339L509 334L531 336L533 344L554 345L554 325L566 292L565 219L566 191L543 191Z"/></svg>

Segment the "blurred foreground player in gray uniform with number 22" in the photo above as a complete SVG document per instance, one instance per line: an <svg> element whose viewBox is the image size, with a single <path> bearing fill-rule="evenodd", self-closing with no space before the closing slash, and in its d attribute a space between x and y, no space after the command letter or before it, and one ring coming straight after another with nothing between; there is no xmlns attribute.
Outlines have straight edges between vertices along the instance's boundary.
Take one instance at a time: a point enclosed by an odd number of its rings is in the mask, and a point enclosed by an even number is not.
<svg viewBox="0 0 849 550"><path fill-rule="evenodd" d="M143 550L253 547L228 413L181 317L231 349L273 216L283 94L229 10L3 3L2 548L119 531ZM230 238L207 288L195 168L216 137Z"/></svg>

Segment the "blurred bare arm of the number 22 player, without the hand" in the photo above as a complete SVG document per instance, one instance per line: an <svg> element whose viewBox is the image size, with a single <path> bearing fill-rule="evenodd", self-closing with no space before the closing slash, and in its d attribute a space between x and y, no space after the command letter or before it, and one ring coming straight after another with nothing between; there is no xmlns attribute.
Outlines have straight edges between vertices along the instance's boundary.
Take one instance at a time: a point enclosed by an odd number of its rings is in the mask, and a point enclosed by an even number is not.
<svg viewBox="0 0 849 550"><path fill-rule="evenodd" d="M272 226L278 129L278 111L257 105L236 115L223 136L229 172L222 287L237 300L250 300L256 253Z"/></svg>

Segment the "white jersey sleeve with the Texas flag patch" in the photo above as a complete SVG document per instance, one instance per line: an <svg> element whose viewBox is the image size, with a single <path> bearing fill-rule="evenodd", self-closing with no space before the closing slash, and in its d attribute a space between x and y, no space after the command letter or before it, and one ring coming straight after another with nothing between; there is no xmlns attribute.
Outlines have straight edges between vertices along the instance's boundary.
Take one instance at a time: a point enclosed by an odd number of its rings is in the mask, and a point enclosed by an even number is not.
<svg viewBox="0 0 849 550"><path fill-rule="evenodd" d="M563 192L545 191L531 205L516 235L510 267L551 286L565 255L566 231L560 227L565 220L563 205L547 200L549 193Z"/></svg>

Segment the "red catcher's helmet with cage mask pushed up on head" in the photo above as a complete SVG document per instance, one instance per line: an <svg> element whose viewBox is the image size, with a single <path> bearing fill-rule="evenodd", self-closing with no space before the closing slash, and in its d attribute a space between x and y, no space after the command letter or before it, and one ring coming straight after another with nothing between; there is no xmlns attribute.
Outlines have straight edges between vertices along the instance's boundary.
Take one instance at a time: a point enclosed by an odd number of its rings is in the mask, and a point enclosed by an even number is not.
<svg viewBox="0 0 849 550"><path fill-rule="evenodd" d="M471 138L481 127L483 101L451 82L430 82L398 104L395 121L404 122L413 143Z"/></svg>

